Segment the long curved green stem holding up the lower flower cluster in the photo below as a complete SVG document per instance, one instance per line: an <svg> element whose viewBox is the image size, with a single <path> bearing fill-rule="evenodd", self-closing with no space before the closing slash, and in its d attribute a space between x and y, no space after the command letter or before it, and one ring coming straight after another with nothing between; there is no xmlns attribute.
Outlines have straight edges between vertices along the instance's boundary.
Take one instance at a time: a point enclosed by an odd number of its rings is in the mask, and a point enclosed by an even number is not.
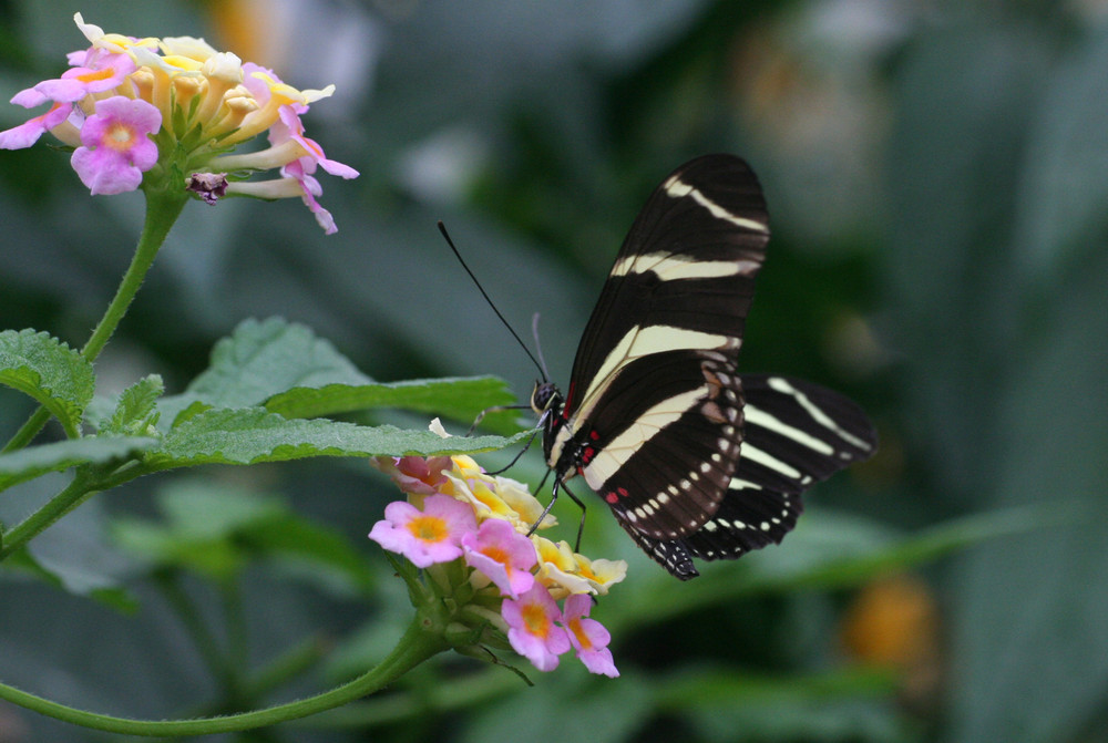
<svg viewBox="0 0 1108 743"><path fill-rule="evenodd" d="M75 710L7 684L0 684L0 699L19 704L39 714L54 718L55 720L120 735L212 735L215 733L264 727L341 706L380 690L416 665L447 650L449 647L440 634L429 631L425 628L424 620L417 615L416 620L408 627L400 642L397 643L396 649L388 658L353 681L317 694L316 696L289 702L288 704L279 704L265 710L255 710L253 712L228 714L218 718L201 718L196 720L133 720L113 718L105 714Z"/></svg>

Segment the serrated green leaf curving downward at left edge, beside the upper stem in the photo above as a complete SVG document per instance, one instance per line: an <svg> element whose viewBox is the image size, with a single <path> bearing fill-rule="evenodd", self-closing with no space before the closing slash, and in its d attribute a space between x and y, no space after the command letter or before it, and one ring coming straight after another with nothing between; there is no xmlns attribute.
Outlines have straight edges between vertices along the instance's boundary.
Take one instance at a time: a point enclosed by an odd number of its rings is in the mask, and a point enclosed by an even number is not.
<svg viewBox="0 0 1108 743"><path fill-rule="evenodd" d="M96 379L84 357L49 333L4 330L0 332L0 383L38 400L75 437Z"/></svg>

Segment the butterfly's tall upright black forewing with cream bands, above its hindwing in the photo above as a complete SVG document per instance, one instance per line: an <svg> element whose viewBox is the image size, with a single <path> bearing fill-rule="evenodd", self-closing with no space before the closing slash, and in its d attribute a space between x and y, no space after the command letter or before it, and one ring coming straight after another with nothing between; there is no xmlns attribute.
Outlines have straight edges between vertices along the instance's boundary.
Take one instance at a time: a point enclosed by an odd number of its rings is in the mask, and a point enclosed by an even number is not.
<svg viewBox="0 0 1108 743"><path fill-rule="evenodd" d="M624 240L573 362L568 417L587 414L636 355L733 344L766 255L766 202L750 167L706 155L659 185Z"/></svg>

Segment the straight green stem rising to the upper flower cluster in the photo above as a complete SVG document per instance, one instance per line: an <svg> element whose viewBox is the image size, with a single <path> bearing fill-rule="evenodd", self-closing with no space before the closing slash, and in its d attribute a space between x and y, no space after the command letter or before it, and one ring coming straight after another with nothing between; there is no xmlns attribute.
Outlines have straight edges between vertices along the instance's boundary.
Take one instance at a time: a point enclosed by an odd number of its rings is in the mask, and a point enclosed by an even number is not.
<svg viewBox="0 0 1108 743"><path fill-rule="evenodd" d="M119 327L127 308L138 292L146 272L154 264L154 257L165 242L166 235L173 227L173 223L181 216L181 210L188 200L186 196L177 192L148 190L146 195L146 217L143 223L142 235L138 236L138 245L135 247L135 255L131 259L131 265L123 275L123 281L115 291L115 298L104 311L104 317L96 323L89 341L81 349L81 355L89 361L95 361L100 352L104 350L112 333ZM16 432L11 441L3 447L4 452L13 452L23 448L31 443L31 440L42 431L42 426L50 420L50 411L39 407L27 423Z"/></svg>

